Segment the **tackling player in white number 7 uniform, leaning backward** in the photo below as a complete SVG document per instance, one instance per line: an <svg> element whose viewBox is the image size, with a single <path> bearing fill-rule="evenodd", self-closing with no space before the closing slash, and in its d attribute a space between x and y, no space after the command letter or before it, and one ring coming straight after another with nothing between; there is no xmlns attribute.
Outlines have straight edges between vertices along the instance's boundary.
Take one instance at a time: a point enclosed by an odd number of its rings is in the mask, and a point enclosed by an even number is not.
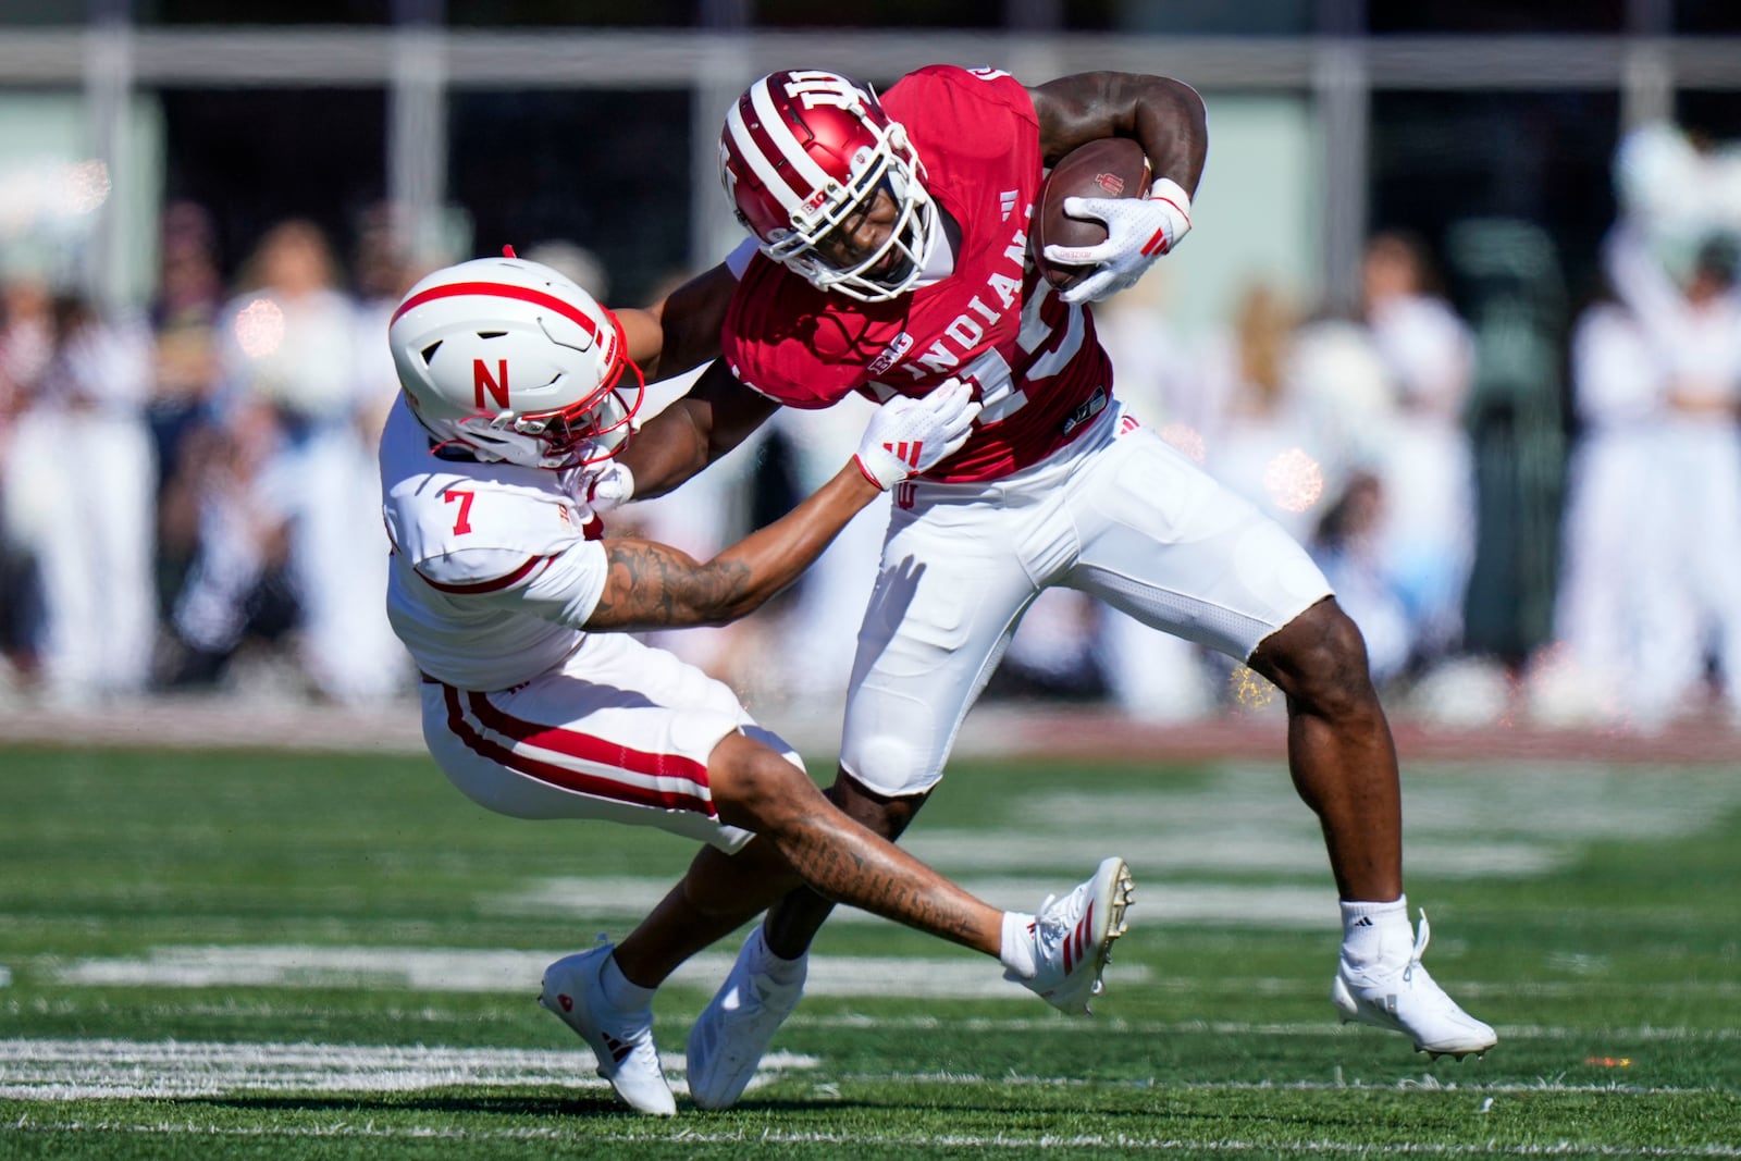
<svg viewBox="0 0 1741 1161"><path fill-rule="evenodd" d="M658 315L618 320L510 252L423 279L388 341L404 388L381 435L388 614L423 674L435 762L503 815L705 844L622 943L545 971L540 1003L592 1046L623 1100L676 1112L653 990L797 884L994 956L1010 980L1086 1011L1125 928L1123 860L1038 916L998 910L834 808L729 688L629 635L731 621L785 588L853 513L961 446L978 414L966 385L879 409L832 480L702 564L604 540L587 500L629 440L642 388L632 355L660 353Z"/></svg>

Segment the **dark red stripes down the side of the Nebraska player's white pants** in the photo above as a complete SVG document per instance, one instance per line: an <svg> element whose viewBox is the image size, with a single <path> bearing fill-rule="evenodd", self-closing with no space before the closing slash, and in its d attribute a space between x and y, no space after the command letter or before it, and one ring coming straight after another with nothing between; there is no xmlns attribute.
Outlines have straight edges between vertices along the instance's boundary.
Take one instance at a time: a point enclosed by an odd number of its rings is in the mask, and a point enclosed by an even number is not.
<svg viewBox="0 0 1741 1161"><path fill-rule="evenodd" d="M460 738L468 750L479 757L496 762L498 766L507 766L519 775L547 782L554 787L562 787L564 790L575 790L578 794L590 794L594 797L629 802L632 806L686 809L695 811L696 815L707 815L709 818L716 816L714 804L703 795L703 789L707 787L707 768L700 762L670 754L630 750L629 747L604 742L573 729L526 722L491 705L482 693L468 695L470 708L477 714L477 719L489 729L507 735L515 742L555 750L588 762L616 766L637 775L644 773L684 778L693 782L698 789L695 792L660 790L655 787L616 782L602 775L588 775L578 769L569 769L568 766L557 766L555 762L529 757L512 747L505 747L500 742L486 738L472 726L472 722L465 719L465 712L460 707L458 689L449 684L442 684L442 696L447 701L447 729L453 731L453 735Z"/></svg>

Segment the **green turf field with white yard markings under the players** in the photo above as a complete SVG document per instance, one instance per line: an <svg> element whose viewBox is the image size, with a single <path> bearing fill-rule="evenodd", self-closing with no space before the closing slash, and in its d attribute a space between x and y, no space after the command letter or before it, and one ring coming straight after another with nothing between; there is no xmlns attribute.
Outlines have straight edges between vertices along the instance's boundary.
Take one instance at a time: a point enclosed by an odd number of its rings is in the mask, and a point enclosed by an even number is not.
<svg viewBox="0 0 1741 1161"><path fill-rule="evenodd" d="M825 766L818 762L818 766ZM1341 1027L1280 761L959 762L909 846L1032 909L1119 853L1093 1020L862 916L731 1112L682 1095L736 940L656 1006L679 1116L618 1105L534 996L689 848L524 823L427 761L0 750L0 1158L1741 1158L1741 771L1412 766L1428 966L1501 1032Z"/></svg>

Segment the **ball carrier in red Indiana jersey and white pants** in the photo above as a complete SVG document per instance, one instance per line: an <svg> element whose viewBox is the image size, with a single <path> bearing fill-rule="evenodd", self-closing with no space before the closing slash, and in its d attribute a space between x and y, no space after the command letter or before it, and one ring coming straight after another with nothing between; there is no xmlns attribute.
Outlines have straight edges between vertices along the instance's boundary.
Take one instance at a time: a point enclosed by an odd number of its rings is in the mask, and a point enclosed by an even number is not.
<svg viewBox="0 0 1741 1161"><path fill-rule="evenodd" d="M1097 266L1059 292L1029 259L1045 167L1112 136L1144 146L1154 185L1144 198L1065 204L1109 237L1048 251ZM1095 339L1088 305L1191 228L1207 146L1201 99L1161 77L1029 89L998 70L931 66L881 99L830 71L763 77L721 132L726 193L752 237L660 308L674 343L709 350L717 336L721 357L599 494L662 494L782 406L971 383L984 406L973 435L895 493L834 801L898 836L1027 606L1052 585L1088 592L1283 691L1290 773L1342 900L1335 1008L1431 1053L1482 1053L1494 1030L1419 963L1428 924L1417 938L1403 896L1396 750L1360 630L1297 541L1123 411ZM689 1084L707 1107L742 1091L797 1001L827 912L820 896L787 896L703 1011Z"/></svg>

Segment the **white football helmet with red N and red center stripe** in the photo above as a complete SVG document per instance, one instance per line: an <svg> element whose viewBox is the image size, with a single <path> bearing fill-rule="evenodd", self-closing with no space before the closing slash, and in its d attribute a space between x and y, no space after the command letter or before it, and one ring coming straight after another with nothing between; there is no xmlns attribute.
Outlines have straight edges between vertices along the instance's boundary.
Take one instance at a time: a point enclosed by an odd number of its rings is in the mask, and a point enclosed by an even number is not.
<svg viewBox="0 0 1741 1161"><path fill-rule="evenodd" d="M562 470L609 460L646 386L611 312L512 254L418 282L387 341L418 421L486 461ZM632 383L618 383L625 369Z"/></svg>

